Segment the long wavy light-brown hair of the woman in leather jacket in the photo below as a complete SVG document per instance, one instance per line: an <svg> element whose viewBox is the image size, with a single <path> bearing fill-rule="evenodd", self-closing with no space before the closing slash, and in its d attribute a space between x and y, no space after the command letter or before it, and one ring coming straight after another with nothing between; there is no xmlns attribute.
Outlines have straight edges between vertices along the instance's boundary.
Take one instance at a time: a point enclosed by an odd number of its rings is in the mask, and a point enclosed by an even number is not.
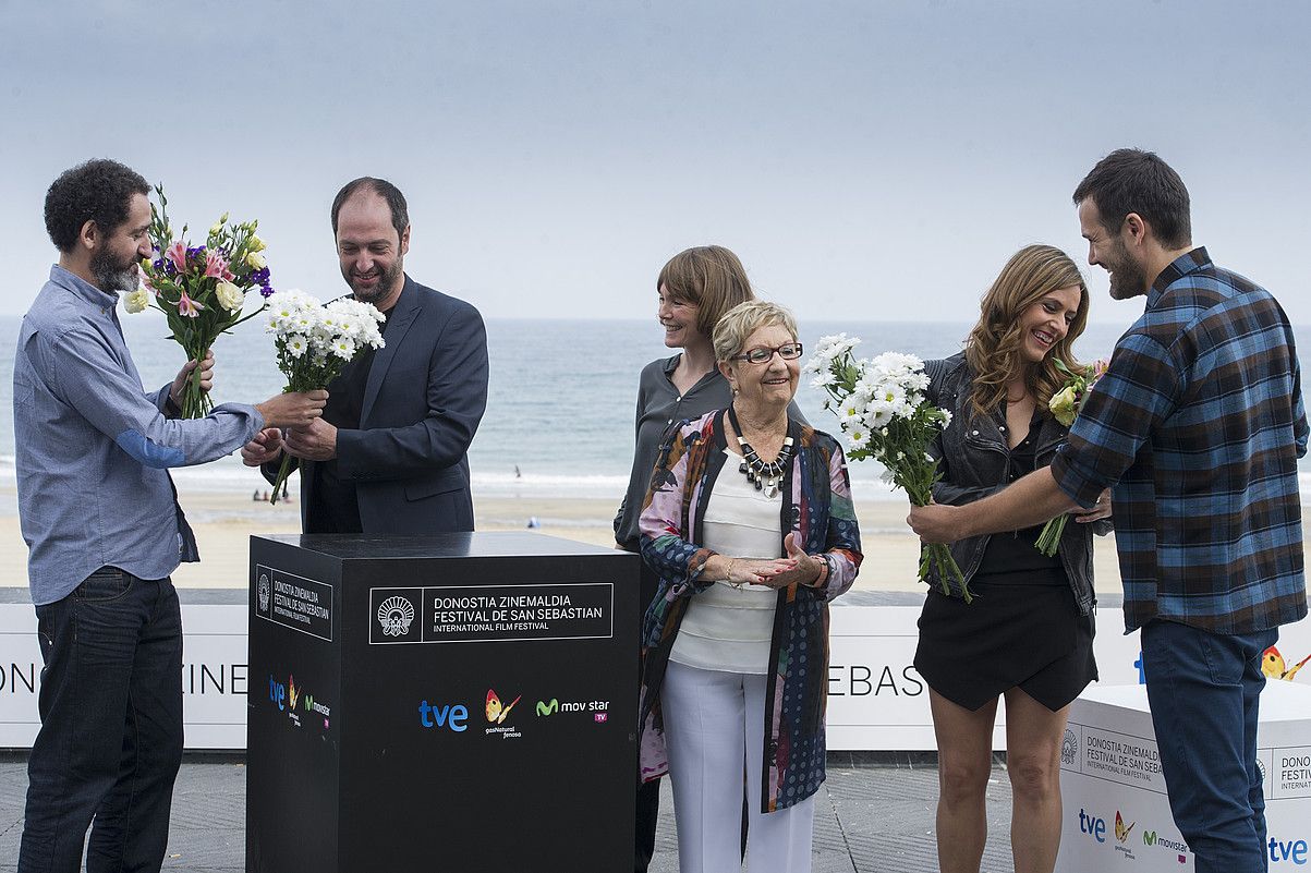
<svg viewBox="0 0 1311 873"><path fill-rule="evenodd" d="M1079 311L1066 336L1040 363L1027 363L1020 354L1024 342L1020 316L1058 288L1079 288ZM1059 359L1071 370L1079 363L1071 347L1088 324L1088 286L1075 262L1051 245L1027 245L1006 262L979 301L979 320L965 340L965 360L973 371L970 402L975 414L988 416L1006 400L1006 384L1016 372L1038 409L1050 414L1047 402L1066 378L1057 370Z"/></svg>

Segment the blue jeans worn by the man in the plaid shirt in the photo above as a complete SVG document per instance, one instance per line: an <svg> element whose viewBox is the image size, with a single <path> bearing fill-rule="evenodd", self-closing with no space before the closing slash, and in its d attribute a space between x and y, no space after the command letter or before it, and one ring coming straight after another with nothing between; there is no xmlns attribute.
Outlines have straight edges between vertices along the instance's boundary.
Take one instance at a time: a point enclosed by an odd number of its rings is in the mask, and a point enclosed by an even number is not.
<svg viewBox="0 0 1311 873"><path fill-rule="evenodd" d="M1159 620L1142 629L1169 809L1197 873L1266 869L1256 716L1265 687L1261 653L1278 636L1278 629L1207 633Z"/></svg>

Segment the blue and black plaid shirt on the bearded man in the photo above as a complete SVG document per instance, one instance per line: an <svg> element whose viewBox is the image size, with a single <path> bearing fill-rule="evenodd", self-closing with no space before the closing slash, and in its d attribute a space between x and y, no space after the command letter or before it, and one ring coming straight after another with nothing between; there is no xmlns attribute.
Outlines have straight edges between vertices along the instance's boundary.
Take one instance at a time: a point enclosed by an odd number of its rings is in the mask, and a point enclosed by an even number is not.
<svg viewBox="0 0 1311 873"><path fill-rule="evenodd" d="M1051 472L1082 506L1114 486L1126 630L1252 633L1307 613L1306 450L1287 316L1198 248L1152 283Z"/></svg>

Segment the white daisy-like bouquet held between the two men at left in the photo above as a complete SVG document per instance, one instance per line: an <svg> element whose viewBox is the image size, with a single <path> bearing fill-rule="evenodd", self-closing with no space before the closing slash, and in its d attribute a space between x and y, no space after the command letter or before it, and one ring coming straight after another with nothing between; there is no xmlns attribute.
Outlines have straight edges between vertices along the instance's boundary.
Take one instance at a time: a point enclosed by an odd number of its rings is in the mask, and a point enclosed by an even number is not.
<svg viewBox="0 0 1311 873"><path fill-rule="evenodd" d="M269 298L269 324L274 334L278 370L287 376L283 391L317 391L341 374L364 349L382 349L379 325L384 316L370 303L351 298L323 305L304 291L279 291ZM291 475L291 456L284 455L273 484L270 503L278 502L282 484Z"/></svg>

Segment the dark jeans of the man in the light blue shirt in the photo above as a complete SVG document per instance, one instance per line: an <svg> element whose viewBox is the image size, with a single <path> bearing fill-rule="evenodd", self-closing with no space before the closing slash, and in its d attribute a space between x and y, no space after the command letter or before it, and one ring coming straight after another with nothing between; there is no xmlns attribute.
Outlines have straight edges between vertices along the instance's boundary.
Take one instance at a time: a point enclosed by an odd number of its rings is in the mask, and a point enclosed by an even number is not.
<svg viewBox="0 0 1311 873"><path fill-rule="evenodd" d="M101 568L37 607L41 733L20 873L159 870L182 763L182 616L169 579Z"/></svg>

